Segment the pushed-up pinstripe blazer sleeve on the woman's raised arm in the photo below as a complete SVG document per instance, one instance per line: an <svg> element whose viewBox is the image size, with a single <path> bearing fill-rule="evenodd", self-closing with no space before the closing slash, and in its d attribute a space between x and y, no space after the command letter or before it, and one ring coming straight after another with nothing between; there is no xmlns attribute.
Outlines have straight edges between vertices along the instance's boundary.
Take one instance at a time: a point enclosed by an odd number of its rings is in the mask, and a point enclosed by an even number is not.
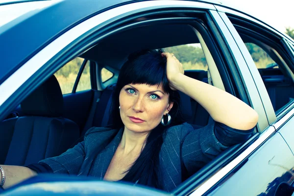
<svg viewBox="0 0 294 196"><path fill-rule="evenodd" d="M229 146L245 142L254 130L233 129L215 121L195 130L187 125L190 130L182 136L181 158L189 173L198 171Z"/></svg>

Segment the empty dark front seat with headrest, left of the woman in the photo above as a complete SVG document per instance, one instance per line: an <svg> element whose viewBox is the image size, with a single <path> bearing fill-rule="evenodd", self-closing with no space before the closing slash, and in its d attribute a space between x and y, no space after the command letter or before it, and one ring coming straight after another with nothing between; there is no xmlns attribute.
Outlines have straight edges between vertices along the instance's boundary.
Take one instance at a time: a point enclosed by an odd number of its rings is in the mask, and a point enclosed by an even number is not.
<svg viewBox="0 0 294 196"><path fill-rule="evenodd" d="M63 96L54 75L21 103L24 117L0 123L0 164L27 165L60 155L79 137L76 123L62 118Z"/></svg>

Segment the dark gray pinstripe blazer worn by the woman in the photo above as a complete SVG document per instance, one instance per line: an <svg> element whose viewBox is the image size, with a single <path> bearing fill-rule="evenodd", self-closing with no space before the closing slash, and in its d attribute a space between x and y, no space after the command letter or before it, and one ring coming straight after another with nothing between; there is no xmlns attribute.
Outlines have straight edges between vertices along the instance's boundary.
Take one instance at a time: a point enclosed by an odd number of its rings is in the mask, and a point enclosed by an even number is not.
<svg viewBox="0 0 294 196"><path fill-rule="evenodd" d="M160 170L165 191L171 192L182 182L181 162L187 172L193 174L227 148L215 137L215 125L213 122L194 130L190 124L184 123L172 126L166 131L160 151ZM60 156L39 163L49 165L54 173L90 175L102 180L121 141L123 128L96 158L89 156L103 141L111 135L114 136L115 132L107 128L92 127L85 134L83 142Z"/></svg>

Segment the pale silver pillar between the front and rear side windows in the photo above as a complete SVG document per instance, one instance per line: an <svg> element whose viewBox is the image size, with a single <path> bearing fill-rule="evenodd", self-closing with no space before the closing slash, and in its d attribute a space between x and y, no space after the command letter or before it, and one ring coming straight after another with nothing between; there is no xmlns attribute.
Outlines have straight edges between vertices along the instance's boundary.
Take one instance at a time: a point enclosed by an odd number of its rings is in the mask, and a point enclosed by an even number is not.
<svg viewBox="0 0 294 196"><path fill-rule="evenodd" d="M265 108L263 106L260 91L257 88L257 85L259 83L256 83L254 77L257 77L257 79L259 79L261 82L262 78L260 77L260 74L253 62L253 59L251 58L251 55L245 47L245 44L243 43L241 37L239 36L238 32L236 31L235 27L232 25L226 14L223 12L215 12L214 17L218 20L218 24L220 24L219 27L221 29L221 32L223 34L226 34L225 45L227 45L227 48L231 53L231 58L235 62L235 69L237 69L236 74L240 75L239 78L241 82L243 82L244 88L246 89L246 94L251 101L251 105L259 115L257 127L259 132L262 132L265 128L269 126L269 122ZM244 55L247 55L247 58ZM251 69L253 70L253 72ZM267 92L263 83L262 85L264 87L264 91ZM268 94L267 96L270 102L270 97ZM274 114L273 109L272 113Z"/></svg>

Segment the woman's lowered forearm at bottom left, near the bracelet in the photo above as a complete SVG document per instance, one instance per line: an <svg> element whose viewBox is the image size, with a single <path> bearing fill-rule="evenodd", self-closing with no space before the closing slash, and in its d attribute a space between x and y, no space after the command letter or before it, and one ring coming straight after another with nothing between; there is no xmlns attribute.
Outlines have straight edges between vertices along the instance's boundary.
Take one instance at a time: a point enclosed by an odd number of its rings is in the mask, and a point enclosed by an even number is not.
<svg viewBox="0 0 294 196"><path fill-rule="evenodd" d="M5 183L3 185L3 189L7 189L17 183L24 181L27 178L37 175L37 172L22 166L0 166L5 172Z"/></svg>

